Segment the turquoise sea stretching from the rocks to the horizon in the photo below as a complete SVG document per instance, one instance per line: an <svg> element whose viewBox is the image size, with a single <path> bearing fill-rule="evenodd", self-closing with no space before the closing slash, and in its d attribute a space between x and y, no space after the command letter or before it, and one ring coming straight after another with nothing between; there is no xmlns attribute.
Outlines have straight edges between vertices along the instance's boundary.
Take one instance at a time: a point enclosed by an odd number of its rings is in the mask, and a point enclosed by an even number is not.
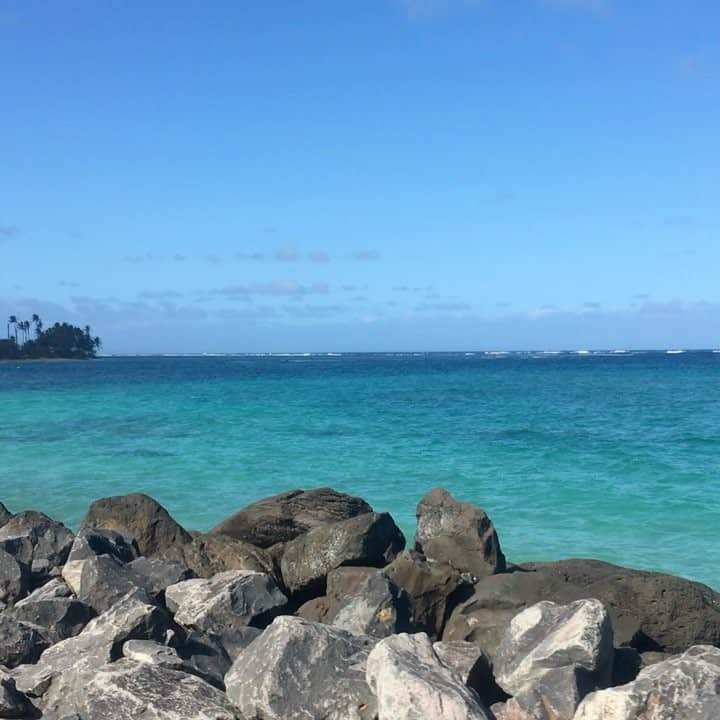
<svg viewBox="0 0 720 720"><path fill-rule="evenodd" d="M74 526L144 491L189 528L332 485L408 537L442 485L513 561L720 588L720 354L107 358L0 364L0 500Z"/></svg>

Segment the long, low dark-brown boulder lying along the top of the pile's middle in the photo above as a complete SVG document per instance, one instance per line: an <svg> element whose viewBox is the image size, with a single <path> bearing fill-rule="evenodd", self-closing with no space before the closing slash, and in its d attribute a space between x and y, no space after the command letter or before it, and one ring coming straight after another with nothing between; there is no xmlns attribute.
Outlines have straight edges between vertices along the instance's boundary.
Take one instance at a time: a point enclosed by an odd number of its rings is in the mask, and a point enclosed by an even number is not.
<svg viewBox="0 0 720 720"><path fill-rule="evenodd" d="M291 490L248 505L210 532L269 548L294 540L320 525L368 512L372 512L372 508L364 500L332 488Z"/></svg>

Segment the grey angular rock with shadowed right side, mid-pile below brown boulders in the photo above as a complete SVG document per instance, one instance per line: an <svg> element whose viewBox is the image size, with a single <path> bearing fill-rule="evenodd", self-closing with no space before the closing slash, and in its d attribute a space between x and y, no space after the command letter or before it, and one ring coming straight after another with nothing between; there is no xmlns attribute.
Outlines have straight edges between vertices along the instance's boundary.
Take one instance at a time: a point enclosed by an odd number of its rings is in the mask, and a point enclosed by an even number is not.
<svg viewBox="0 0 720 720"><path fill-rule="evenodd" d="M353 569L338 568L331 574ZM412 627L410 598L381 570L375 570L335 606L332 624L355 635L377 638L407 632Z"/></svg>

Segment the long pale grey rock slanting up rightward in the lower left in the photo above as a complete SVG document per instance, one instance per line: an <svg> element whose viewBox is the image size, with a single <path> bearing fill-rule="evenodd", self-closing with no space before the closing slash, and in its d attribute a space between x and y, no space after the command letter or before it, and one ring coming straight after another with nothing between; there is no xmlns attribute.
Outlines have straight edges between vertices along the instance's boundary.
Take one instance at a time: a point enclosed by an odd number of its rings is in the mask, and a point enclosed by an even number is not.
<svg viewBox="0 0 720 720"><path fill-rule="evenodd" d="M117 660L127 640L162 640L167 614L144 592L134 591L91 620L76 637L48 648L36 665L23 665L13 673L18 689L43 697L51 707L62 707L63 695L81 687L101 665Z"/></svg>

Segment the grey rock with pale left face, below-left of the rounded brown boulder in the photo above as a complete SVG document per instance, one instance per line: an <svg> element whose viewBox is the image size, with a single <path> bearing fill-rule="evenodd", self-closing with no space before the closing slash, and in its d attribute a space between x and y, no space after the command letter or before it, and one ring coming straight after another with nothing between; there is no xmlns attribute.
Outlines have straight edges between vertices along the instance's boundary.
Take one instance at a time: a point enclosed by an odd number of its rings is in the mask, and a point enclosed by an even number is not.
<svg viewBox="0 0 720 720"><path fill-rule="evenodd" d="M111 555L92 555L67 563L63 580L77 598L96 613L110 609L121 597L140 589L127 565Z"/></svg>

